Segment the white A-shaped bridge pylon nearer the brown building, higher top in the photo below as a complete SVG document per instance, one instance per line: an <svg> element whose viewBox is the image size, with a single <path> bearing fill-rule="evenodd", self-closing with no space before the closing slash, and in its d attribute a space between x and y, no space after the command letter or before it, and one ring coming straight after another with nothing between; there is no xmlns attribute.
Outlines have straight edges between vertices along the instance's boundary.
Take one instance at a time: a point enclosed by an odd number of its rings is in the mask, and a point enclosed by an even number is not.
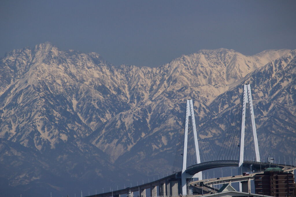
<svg viewBox="0 0 296 197"><path fill-rule="evenodd" d="M241 174L245 170L243 167L243 162L244 162L244 128L245 128L247 103L250 104L250 114L251 114L251 120L252 120L252 131L253 131L253 140L254 140L254 146L255 146L256 161L260 162L259 146L258 146L257 131L256 131L256 125L255 125L255 117L254 117L254 109L253 109L250 84L244 84L243 95L244 95L244 97L243 97L243 104L242 104L242 127L241 127L240 151L239 151L239 174ZM239 191L242 191L242 183L239 183Z"/></svg>

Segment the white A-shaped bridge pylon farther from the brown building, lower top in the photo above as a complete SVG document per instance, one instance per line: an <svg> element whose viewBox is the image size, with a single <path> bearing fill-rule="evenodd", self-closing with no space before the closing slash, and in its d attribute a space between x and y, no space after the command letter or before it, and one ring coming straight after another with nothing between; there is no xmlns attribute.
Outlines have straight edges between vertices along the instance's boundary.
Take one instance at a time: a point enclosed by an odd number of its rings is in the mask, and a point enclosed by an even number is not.
<svg viewBox="0 0 296 197"><path fill-rule="evenodd" d="M196 163L200 163L200 152L198 149L198 141L197 141L197 133L195 127L195 118L194 118L194 110L193 110L193 103L192 99L186 100L186 120L185 120L185 132L184 132L184 151L183 151L183 166L182 166L182 175L181 175L181 182L182 182L182 194L187 195L187 178L198 178L198 180L202 180L202 172L198 172L195 175L189 175L186 173L186 163L187 163L187 141L188 141L188 121L189 117L192 120L192 131L194 135L194 147L196 152Z"/></svg>

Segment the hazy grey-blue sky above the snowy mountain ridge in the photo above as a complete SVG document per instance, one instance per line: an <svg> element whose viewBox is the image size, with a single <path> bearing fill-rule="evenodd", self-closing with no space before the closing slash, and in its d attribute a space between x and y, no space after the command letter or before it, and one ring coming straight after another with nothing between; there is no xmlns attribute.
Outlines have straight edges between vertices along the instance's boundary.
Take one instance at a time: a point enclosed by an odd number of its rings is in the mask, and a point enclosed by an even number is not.
<svg viewBox="0 0 296 197"><path fill-rule="evenodd" d="M0 57L49 41L115 65L159 66L202 48L296 49L296 1L0 1Z"/></svg>

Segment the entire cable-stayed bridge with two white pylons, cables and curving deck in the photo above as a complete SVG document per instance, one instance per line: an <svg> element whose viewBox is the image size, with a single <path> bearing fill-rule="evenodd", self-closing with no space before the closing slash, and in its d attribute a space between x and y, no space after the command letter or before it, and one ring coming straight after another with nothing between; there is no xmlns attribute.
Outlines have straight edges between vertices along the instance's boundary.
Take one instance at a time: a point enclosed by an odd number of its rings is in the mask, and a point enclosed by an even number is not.
<svg viewBox="0 0 296 197"><path fill-rule="evenodd" d="M139 192L140 197L192 195L193 187L203 182L214 192L214 185L239 182L239 191L250 191L250 180L256 173L262 173L268 167L280 167L286 172L293 172L294 165L275 164L266 134L261 127L256 128L255 113L250 84L244 84L242 97L237 104L233 119L226 130L218 151L214 149L202 127L196 127L192 99L186 100L184 126L180 132L172 174L149 183L117 191L100 193L97 197L120 196L128 192ZM256 121L257 122L257 121ZM262 125L260 121L257 124ZM200 137L202 136L202 137ZM198 139L200 141L198 141ZM212 178L206 181L202 171L220 167L238 167L237 176ZM243 175L243 172L256 172ZM198 179L194 181L194 178ZM157 189L158 188L158 189Z"/></svg>

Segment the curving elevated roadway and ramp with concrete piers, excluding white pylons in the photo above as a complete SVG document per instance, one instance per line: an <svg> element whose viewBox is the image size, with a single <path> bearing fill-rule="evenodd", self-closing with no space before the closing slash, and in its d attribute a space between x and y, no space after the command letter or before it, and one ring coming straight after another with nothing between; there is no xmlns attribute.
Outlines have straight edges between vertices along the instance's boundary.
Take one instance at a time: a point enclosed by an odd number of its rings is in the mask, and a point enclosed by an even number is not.
<svg viewBox="0 0 296 197"><path fill-rule="evenodd" d="M224 161L212 161L212 162L204 162L197 165L192 165L187 168L186 173L190 175L194 175L203 170L209 170L219 167L231 167L238 166L237 160L224 160ZM244 161L245 167L252 167L252 170L257 171L257 173L252 173L250 175L236 175L235 177L220 177L217 179L208 179L208 180L198 180L191 181L190 185L199 185L200 182L204 182L205 185L209 187L214 187L214 185L222 184L222 183L234 183L234 182L242 182L243 189L249 191L250 189L250 180L254 179L253 176L258 173L263 173L263 170L269 167L269 163L264 162L254 162L254 161ZM296 168L290 165L282 165L282 164L271 164L271 167L280 167L285 172L293 172ZM258 172L259 171L259 172ZM128 187L125 189L100 193L96 195L92 195L91 197L119 197L120 195L127 194L129 191L139 192L140 197L147 197L146 190L150 190L150 196L178 196L181 191L181 171L176 172L175 174L169 175L167 177L161 178L159 180L155 180L149 183L144 183L142 185Z"/></svg>

